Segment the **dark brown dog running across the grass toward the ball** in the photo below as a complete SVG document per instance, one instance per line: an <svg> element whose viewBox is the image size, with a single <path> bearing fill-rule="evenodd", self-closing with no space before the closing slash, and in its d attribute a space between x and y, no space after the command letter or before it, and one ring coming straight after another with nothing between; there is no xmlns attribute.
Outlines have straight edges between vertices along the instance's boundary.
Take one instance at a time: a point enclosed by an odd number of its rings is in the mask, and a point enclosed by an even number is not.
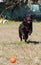
<svg viewBox="0 0 41 65"><path fill-rule="evenodd" d="M20 40L24 39L26 42L28 39L28 35L31 35L32 33L32 16L26 15L23 18L23 22L19 26L19 37Z"/></svg>

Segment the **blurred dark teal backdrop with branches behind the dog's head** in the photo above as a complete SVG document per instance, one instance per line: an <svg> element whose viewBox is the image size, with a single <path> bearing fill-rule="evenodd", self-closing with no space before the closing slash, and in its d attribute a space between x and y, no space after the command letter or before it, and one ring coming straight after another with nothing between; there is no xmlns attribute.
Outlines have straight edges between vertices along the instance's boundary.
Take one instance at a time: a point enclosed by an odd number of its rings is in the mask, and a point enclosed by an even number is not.
<svg viewBox="0 0 41 65"><path fill-rule="evenodd" d="M0 18L22 20L25 14L41 20L41 0L0 0Z"/></svg>

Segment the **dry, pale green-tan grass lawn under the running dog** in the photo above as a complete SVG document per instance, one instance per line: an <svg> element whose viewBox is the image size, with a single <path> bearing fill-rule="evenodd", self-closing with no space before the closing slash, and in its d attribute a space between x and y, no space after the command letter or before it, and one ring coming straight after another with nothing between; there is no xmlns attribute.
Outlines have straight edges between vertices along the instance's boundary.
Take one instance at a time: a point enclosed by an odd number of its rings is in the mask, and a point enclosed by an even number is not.
<svg viewBox="0 0 41 65"><path fill-rule="evenodd" d="M0 65L41 65L41 22L33 22L33 33L27 43L19 39L20 23L0 24ZM11 57L16 57L15 63L10 63Z"/></svg>

